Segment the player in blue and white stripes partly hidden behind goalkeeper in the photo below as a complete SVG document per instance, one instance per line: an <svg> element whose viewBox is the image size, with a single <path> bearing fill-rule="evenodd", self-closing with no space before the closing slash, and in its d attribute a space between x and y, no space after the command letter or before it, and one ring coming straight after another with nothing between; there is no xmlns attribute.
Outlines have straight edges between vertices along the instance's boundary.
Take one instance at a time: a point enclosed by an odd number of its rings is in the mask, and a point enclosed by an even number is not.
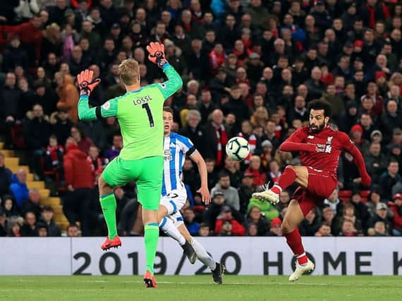
<svg viewBox="0 0 402 301"><path fill-rule="evenodd" d="M201 188L197 192L200 192L205 204L211 202L207 185L207 166L193 142L186 137L171 133L172 123L173 111L169 107L164 107L164 178L158 210L159 228L178 241L192 264L198 257L200 262L208 266L212 271L214 283L221 284L225 267L215 262L205 248L190 235L179 211L187 199L187 192L181 180L185 156L190 156L198 166Z"/></svg>

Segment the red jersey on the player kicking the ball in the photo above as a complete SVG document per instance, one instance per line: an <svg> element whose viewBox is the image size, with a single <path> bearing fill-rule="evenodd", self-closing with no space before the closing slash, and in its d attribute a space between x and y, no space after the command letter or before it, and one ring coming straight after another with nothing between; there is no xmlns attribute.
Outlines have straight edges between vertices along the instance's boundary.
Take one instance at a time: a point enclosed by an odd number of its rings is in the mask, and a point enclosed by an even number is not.
<svg viewBox="0 0 402 301"><path fill-rule="evenodd" d="M319 133L312 132L308 126L299 128L286 141L315 145L319 152L300 151L302 164L317 171L326 171L335 178L341 152L349 152L354 145L346 133L334 130L329 126Z"/></svg>

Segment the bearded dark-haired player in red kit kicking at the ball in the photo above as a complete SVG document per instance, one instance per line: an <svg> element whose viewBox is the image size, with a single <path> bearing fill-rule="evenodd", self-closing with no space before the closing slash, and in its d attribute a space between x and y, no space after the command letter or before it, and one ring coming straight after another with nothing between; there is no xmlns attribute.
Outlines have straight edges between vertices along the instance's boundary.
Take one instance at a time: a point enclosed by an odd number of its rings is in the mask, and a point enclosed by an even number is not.
<svg viewBox="0 0 402 301"><path fill-rule="evenodd" d="M336 169L342 151L350 153L355 159L361 184L370 186L371 182L358 148L346 133L334 130L328 125L331 106L327 102L316 100L310 102L308 110L310 126L296 130L279 147L282 152L300 152L303 166L286 166L277 185L269 190L252 194L252 197L261 201L277 204L282 190L293 182L300 185L291 197L281 226L286 242L297 258L296 270L289 276L289 281L296 281L305 271L314 269L314 264L305 254L298 224L313 207L323 202L336 188L338 182Z"/></svg>

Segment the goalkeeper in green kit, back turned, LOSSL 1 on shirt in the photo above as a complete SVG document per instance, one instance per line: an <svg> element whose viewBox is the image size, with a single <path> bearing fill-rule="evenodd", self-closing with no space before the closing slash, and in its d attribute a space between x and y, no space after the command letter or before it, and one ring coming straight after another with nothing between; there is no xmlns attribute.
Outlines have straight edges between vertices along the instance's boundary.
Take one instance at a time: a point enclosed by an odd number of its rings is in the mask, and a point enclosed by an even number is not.
<svg viewBox="0 0 402 301"><path fill-rule="evenodd" d="M159 238L157 210L162 191L164 169L164 101L183 85L180 75L166 61L164 45L151 42L147 46L148 59L162 68L168 80L162 84L140 87L138 62L126 59L118 66L118 75L126 87L126 94L90 108L88 97L100 80L93 80L92 70L78 75L80 120L91 121L106 117L118 118L123 136L123 149L99 177L99 199L109 232L102 250L121 245L116 230L116 199L113 188L135 180L138 202L142 204L142 221L145 228L147 268L144 282L156 288L154 259Z"/></svg>

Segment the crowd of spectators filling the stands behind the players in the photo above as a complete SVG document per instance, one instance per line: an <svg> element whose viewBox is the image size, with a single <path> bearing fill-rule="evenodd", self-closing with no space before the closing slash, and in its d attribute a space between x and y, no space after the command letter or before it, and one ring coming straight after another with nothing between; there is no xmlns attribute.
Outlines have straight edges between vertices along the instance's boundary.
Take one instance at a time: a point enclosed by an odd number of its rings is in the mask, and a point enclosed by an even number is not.
<svg viewBox="0 0 402 301"><path fill-rule="evenodd" d="M102 79L91 106L123 94L118 64L140 63L141 84L162 82L147 61L150 41L185 84L166 105L173 130L204 156L212 204L196 190L189 159L183 179L192 235L281 235L292 189L274 207L252 192L275 183L298 154L278 147L307 124L312 99L329 102L331 124L348 133L365 157L372 187L361 187L350 154L339 161L339 190L300 225L303 235L402 235L402 4L394 0L14 0L0 1L0 130L7 149L30 159L37 179L56 183L71 226L68 235L104 235L97 177L121 150L116 118L78 121L75 76ZM242 136L245 161L225 157ZM51 207L41 207L27 175L0 154L0 235L60 235ZM370 191L363 197L361 191ZM121 235L141 235L135 185L115 191ZM77 222L80 222L79 224ZM78 228L78 226L80 228ZM64 230L64 229L63 229Z"/></svg>

